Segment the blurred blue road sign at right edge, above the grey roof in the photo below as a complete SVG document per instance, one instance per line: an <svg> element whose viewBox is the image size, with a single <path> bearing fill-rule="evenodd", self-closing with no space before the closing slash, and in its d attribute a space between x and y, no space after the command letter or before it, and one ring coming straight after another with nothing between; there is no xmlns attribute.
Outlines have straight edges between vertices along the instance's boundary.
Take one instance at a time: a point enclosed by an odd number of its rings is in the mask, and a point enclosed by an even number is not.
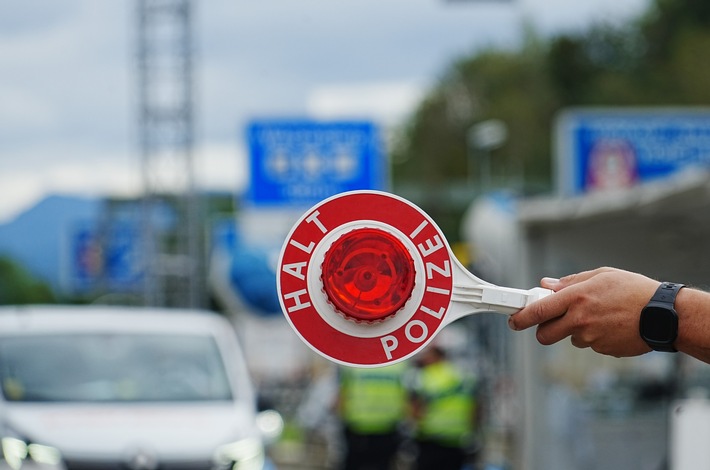
<svg viewBox="0 0 710 470"><path fill-rule="evenodd" d="M579 194L710 168L710 109L580 108L556 127L558 184Z"/></svg>

